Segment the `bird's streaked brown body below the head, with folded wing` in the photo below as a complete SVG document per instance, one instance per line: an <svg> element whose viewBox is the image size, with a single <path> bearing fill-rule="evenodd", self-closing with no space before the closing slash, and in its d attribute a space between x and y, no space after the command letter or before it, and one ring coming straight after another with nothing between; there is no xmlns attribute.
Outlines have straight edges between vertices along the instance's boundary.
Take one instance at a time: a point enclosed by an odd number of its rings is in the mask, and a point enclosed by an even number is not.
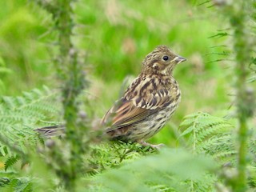
<svg viewBox="0 0 256 192"><path fill-rule="evenodd" d="M172 76L141 75L127 88L125 95L109 110L106 133L123 141L152 137L170 119L178 107L181 92Z"/></svg>

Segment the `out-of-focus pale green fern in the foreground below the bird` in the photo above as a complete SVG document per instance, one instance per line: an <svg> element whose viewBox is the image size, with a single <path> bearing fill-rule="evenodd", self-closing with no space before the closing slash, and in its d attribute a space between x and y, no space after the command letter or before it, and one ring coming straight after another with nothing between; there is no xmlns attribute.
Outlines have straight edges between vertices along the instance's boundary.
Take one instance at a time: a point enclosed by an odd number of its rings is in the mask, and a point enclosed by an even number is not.
<svg viewBox="0 0 256 192"><path fill-rule="evenodd" d="M163 149L160 154L97 175L92 178L91 190L210 191L215 178L209 173L215 168L211 158L194 156L184 150Z"/></svg>

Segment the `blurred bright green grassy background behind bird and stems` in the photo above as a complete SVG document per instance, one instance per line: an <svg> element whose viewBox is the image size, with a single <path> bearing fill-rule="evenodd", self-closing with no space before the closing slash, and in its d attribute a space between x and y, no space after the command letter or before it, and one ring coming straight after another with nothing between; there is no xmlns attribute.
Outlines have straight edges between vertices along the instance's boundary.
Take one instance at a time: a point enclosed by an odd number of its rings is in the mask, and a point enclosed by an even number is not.
<svg viewBox="0 0 256 192"><path fill-rule="evenodd" d="M222 55L229 42L210 38L226 29L204 1L80 0L74 6L74 44L90 81L87 108L101 118L118 98L122 81L135 78L142 59L155 46L170 46L187 58L174 77L182 102L172 120L150 142L174 146L178 124L186 114L222 115L232 94L230 64ZM54 59L57 34L50 14L33 1L1 1L0 94L19 95L46 85L58 88Z"/></svg>

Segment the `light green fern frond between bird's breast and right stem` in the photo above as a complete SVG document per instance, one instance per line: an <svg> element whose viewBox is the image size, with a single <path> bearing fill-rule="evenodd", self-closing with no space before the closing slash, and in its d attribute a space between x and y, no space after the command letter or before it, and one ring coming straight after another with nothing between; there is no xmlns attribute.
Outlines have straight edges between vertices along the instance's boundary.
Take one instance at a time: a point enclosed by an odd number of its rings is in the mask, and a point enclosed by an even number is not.
<svg viewBox="0 0 256 192"><path fill-rule="evenodd" d="M211 154L222 158L234 154L234 138L227 134L234 126L224 118L206 113L195 113L186 116L179 128L181 137L189 137L188 146L196 154Z"/></svg>

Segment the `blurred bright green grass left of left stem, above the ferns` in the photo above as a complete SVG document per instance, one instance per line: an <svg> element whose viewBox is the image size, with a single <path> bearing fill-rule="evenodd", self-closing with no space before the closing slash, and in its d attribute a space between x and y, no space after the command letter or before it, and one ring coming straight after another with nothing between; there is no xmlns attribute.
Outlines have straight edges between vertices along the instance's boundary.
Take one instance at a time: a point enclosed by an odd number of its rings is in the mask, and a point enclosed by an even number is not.
<svg viewBox="0 0 256 192"><path fill-rule="evenodd" d="M0 6L5 7L0 14L0 58L11 71L11 74L0 73L5 84L0 94L19 94L34 87L53 84L50 79L50 83L43 80L53 68L49 65L51 57L47 54L48 48L42 43L45 38L38 41L38 37L46 33L46 26L51 25L50 16L28 2L0 2ZM47 23L46 26L43 23ZM49 42L50 38L51 35L48 35L46 41Z"/></svg>

